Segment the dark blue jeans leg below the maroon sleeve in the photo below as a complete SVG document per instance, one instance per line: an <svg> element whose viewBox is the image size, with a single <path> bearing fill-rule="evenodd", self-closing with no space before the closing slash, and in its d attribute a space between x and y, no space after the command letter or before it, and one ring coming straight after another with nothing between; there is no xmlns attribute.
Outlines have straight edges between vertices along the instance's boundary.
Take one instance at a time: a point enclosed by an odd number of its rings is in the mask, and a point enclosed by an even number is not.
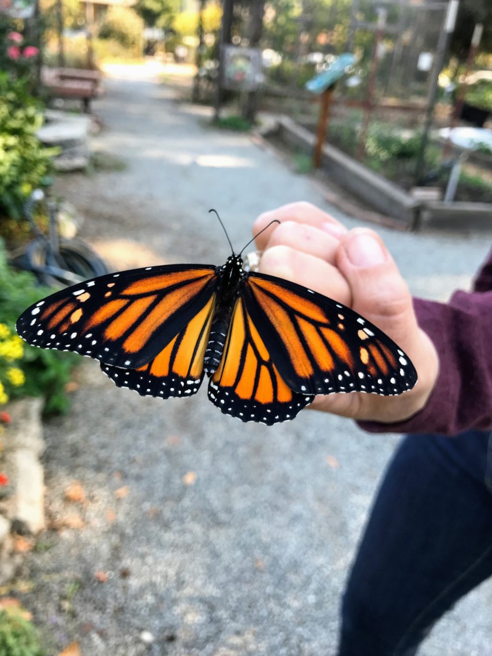
<svg viewBox="0 0 492 656"><path fill-rule="evenodd" d="M490 576L492 434L404 438L348 579L338 656L413 656Z"/></svg>

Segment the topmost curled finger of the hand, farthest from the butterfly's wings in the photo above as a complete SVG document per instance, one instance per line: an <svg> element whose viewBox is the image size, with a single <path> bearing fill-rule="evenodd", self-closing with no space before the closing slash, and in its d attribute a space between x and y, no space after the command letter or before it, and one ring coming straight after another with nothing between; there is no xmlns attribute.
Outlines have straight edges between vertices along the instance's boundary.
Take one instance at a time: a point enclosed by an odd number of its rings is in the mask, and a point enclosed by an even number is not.
<svg viewBox="0 0 492 656"><path fill-rule="evenodd" d="M297 203L282 205L277 209L260 214L253 224L253 234L258 234L260 230L266 228L273 220L280 221L281 223L284 221L296 221L298 223L308 224L319 228L319 230L324 230L332 236L341 236L347 232L346 228L336 218L323 212L316 205L312 205L312 203L307 203L306 201L298 201ZM269 234L270 231L266 230L256 238L256 248L259 251L264 251L266 248Z"/></svg>

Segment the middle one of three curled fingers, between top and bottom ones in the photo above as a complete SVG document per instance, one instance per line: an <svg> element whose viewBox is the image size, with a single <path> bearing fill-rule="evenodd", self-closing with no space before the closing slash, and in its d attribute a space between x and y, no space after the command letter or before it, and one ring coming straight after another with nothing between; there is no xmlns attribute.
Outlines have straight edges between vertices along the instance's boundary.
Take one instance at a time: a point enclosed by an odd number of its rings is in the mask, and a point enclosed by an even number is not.
<svg viewBox="0 0 492 656"><path fill-rule="evenodd" d="M270 234L265 251L274 246L289 246L307 255L335 264L340 240L319 228L296 221L284 221Z"/></svg>

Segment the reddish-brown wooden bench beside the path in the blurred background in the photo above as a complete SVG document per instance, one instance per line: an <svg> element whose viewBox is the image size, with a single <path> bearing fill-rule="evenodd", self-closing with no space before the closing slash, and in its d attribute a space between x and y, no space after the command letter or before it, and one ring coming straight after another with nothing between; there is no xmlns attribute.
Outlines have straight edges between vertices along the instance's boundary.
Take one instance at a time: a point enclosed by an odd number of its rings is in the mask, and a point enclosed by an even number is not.
<svg viewBox="0 0 492 656"><path fill-rule="evenodd" d="M43 69L43 83L57 98L81 100L83 111L91 111L91 100L102 93L102 76L99 71L79 68Z"/></svg>

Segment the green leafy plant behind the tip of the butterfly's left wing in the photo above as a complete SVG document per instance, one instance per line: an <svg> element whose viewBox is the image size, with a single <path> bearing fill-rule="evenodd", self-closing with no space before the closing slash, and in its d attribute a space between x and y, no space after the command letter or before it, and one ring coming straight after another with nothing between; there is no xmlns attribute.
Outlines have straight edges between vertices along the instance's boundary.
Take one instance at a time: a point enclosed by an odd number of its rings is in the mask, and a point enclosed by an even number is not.
<svg viewBox="0 0 492 656"><path fill-rule="evenodd" d="M16 272L8 264L5 249L0 242L0 321L12 333L20 314L28 306L50 293L52 289L40 287L28 272ZM43 396L45 413L63 413L69 407L64 392L70 380L70 371L79 358L75 354L35 348L24 344L22 360L16 365L22 369L25 382L12 390L12 397ZM1 656L1 651L0 651Z"/></svg>

